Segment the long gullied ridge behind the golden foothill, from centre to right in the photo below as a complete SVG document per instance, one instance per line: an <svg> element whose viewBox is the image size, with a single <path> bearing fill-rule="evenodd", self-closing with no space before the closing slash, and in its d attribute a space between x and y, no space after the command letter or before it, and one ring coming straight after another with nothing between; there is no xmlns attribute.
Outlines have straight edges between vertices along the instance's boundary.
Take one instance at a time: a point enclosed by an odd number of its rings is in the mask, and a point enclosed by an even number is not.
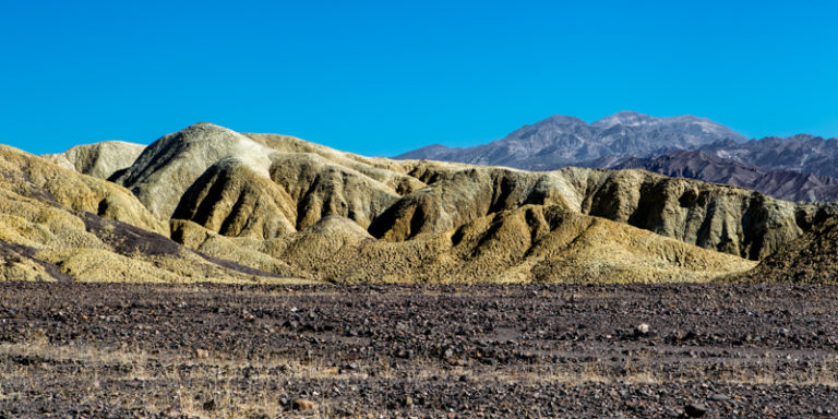
<svg viewBox="0 0 838 419"><path fill-rule="evenodd" d="M429 188L403 196L371 226L388 240L440 232L525 204L563 205L706 249L759 260L809 228L819 206L644 171L567 168L534 173L417 163Z"/></svg>

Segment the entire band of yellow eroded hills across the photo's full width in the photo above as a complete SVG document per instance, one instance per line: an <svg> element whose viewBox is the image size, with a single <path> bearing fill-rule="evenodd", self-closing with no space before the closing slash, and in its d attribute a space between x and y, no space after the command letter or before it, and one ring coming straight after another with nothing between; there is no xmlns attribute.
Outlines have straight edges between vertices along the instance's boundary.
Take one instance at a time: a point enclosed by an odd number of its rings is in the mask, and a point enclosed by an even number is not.
<svg viewBox="0 0 838 419"><path fill-rule="evenodd" d="M7 279L707 282L793 259L798 280L834 282L809 273L835 205L645 170L394 160L197 123L148 146L0 146L0 173Z"/></svg>

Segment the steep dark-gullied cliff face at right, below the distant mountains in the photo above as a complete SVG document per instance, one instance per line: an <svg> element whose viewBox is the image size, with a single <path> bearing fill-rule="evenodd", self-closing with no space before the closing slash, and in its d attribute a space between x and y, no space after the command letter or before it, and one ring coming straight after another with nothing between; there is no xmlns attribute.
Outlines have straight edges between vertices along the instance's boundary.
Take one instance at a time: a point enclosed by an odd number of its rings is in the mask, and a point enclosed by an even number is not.
<svg viewBox="0 0 838 419"><path fill-rule="evenodd" d="M759 260L834 208L779 201L728 185L667 178L646 171L566 168L579 211L659 235Z"/></svg>

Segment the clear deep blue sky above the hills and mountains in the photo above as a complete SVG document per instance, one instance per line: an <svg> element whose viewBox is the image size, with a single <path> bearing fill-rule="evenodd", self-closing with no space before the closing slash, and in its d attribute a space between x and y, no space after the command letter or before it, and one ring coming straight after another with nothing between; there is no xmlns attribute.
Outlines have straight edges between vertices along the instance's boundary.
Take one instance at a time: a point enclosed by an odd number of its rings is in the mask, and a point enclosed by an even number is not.
<svg viewBox="0 0 838 419"><path fill-rule="evenodd" d="M838 135L838 1L0 0L0 143L197 121L395 155L550 115Z"/></svg>

